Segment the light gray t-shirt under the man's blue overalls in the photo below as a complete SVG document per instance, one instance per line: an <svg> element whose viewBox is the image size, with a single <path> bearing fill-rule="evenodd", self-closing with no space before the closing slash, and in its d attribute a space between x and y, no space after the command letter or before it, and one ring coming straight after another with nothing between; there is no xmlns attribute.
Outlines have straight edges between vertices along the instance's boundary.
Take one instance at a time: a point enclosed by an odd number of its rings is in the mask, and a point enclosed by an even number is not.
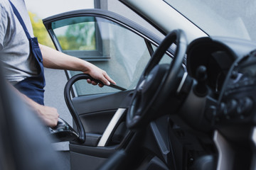
<svg viewBox="0 0 256 170"><path fill-rule="evenodd" d="M31 21L23 0L11 0L33 37ZM0 0L0 60L4 64L4 75L11 84L37 74L35 59L30 54L28 38L15 16L8 0Z"/></svg>

